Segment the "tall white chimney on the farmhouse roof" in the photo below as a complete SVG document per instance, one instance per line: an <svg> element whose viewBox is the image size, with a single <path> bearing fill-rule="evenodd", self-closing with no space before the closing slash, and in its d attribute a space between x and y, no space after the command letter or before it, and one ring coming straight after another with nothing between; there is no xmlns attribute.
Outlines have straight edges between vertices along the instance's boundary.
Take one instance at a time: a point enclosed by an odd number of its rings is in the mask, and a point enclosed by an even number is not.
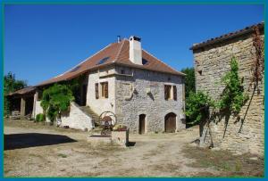
<svg viewBox="0 0 268 181"><path fill-rule="evenodd" d="M131 36L130 37L130 61L142 65L142 55L141 55L141 43L140 37Z"/></svg>

